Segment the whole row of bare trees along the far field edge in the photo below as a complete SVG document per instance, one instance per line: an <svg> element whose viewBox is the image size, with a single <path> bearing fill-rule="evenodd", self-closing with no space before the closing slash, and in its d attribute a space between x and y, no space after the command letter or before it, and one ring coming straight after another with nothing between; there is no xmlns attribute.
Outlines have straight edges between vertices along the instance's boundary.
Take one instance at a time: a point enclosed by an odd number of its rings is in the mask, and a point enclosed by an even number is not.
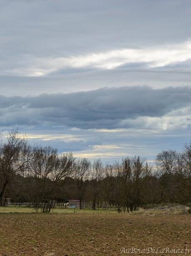
<svg viewBox="0 0 191 256"><path fill-rule="evenodd" d="M2 136L1 136L2 137ZM50 212L54 200L77 199L91 208L134 211L146 204L191 202L191 143L181 152L163 150L153 165L135 156L121 162L91 163L59 154L56 148L31 146L27 137L12 129L0 142L0 205L6 198L28 202Z"/></svg>

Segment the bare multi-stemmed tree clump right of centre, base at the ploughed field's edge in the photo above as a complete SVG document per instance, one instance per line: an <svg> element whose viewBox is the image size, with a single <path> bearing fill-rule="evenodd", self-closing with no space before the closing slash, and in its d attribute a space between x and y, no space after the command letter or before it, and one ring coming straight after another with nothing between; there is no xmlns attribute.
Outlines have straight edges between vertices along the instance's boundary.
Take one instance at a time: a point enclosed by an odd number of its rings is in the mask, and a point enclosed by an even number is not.
<svg viewBox="0 0 191 256"><path fill-rule="evenodd" d="M131 212L142 202L143 185L150 174L150 168L140 157L125 158L121 163L106 166L107 193L117 207Z"/></svg>

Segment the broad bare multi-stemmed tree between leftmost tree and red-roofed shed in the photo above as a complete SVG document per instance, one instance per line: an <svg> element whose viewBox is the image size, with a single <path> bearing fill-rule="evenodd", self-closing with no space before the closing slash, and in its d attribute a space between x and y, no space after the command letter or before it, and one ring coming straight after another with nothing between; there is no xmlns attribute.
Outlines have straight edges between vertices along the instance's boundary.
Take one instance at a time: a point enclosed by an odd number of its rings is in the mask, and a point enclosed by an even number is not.
<svg viewBox="0 0 191 256"><path fill-rule="evenodd" d="M57 149L36 146L33 148L30 166L25 171L29 184L29 196L36 210L50 212L55 190L60 180L70 176L73 171L72 153L58 155Z"/></svg>

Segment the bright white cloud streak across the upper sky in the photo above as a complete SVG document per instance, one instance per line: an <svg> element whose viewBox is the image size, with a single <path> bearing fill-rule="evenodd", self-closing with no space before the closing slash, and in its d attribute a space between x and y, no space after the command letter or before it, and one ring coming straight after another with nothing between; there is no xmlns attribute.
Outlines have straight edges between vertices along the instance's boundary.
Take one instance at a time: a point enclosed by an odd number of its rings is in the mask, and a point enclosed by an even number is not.
<svg viewBox="0 0 191 256"><path fill-rule="evenodd" d="M142 65L144 68L159 68L188 60L191 60L191 41L152 48L123 48L76 56L48 56L43 58L21 56L15 60L15 63L13 61L11 65L1 63L1 74L45 76L62 69L90 68L109 70L122 65L132 65L134 67ZM9 68L6 69L6 66Z"/></svg>

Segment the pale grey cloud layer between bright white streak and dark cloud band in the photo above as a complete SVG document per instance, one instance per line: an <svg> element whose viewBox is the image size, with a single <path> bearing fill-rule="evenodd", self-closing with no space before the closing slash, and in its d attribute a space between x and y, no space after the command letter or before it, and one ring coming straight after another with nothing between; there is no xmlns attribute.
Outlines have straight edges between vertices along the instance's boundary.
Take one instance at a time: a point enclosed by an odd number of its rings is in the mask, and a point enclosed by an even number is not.
<svg viewBox="0 0 191 256"><path fill-rule="evenodd" d="M0 94L27 96L89 91L100 87L148 85L154 88L191 85L190 70L153 70L120 67L114 70L51 74L41 77L0 76Z"/></svg>

